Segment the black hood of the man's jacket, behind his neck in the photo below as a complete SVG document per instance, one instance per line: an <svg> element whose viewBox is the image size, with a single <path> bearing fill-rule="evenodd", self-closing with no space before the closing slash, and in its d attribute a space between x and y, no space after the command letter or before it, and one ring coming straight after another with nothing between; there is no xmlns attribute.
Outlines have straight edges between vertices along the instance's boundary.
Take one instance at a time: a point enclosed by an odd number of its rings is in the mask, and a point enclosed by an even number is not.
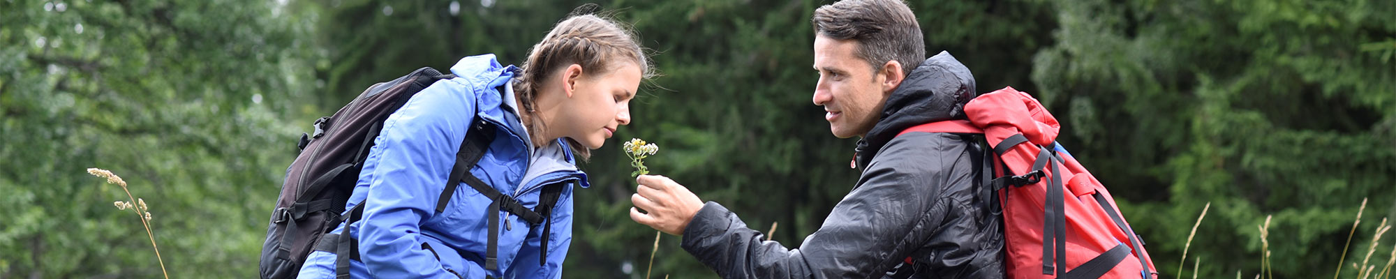
<svg viewBox="0 0 1396 279"><path fill-rule="evenodd" d="M859 141L859 165L872 159L882 145L912 126L965 119L965 105L974 99L969 67L941 52L912 70L882 106L882 119ZM867 152L867 153L866 153Z"/></svg>

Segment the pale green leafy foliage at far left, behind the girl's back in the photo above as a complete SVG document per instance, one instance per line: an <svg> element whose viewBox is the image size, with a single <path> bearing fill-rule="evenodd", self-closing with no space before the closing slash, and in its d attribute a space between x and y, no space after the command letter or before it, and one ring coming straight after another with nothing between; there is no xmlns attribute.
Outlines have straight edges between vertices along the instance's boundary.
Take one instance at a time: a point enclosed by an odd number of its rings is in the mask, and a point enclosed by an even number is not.
<svg viewBox="0 0 1396 279"><path fill-rule="evenodd" d="M254 276L309 32L269 1L0 1L0 278ZM214 13L216 11L216 13Z"/></svg>

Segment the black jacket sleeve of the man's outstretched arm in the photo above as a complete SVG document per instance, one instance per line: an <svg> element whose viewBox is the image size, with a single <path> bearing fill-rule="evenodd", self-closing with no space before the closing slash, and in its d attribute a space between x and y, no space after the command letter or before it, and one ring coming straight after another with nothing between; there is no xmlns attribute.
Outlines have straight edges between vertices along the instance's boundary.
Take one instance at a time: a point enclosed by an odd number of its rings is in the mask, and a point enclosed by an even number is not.
<svg viewBox="0 0 1396 279"><path fill-rule="evenodd" d="M799 248L762 241L757 230L708 202L684 230L683 248L722 278L882 278L928 239L945 218L938 198L942 166L956 156L927 156L891 142ZM934 146L933 146L934 148ZM892 159L891 156L895 156Z"/></svg>

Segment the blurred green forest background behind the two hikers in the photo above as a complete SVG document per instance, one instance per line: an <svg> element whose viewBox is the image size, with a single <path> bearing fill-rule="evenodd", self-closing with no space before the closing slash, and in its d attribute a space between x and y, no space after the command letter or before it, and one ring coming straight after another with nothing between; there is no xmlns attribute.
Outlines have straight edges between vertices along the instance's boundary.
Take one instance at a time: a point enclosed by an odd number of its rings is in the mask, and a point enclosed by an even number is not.
<svg viewBox="0 0 1396 279"><path fill-rule="evenodd" d="M0 0L0 278L158 278L110 169L149 202L172 278L254 278L310 124L363 88L459 57L525 52L584 1ZM621 140L651 170L787 247L857 173L811 105L810 14L826 1L599 3L663 77L584 166L564 278L644 278ZM1015 86L1111 188L1163 278L1252 278L1273 215L1276 278L1356 278L1396 216L1396 1L913 0L928 53L979 91ZM1358 204L1369 204L1343 257ZM1189 229L1205 204L1188 261ZM1369 265L1382 269L1393 236ZM1378 264L1381 262L1381 264ZM1174 273L1185 266L1181 275ZM666 236L653 278L715 275Z"/></svg>

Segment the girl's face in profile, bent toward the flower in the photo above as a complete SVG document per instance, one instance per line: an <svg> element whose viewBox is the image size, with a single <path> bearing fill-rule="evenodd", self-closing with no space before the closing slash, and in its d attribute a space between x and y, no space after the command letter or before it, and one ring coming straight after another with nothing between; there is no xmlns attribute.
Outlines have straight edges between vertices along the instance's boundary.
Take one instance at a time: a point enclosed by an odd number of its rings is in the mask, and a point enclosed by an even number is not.
<svg viewBox="0 0 1396 279"><path fill-rule="evenodd" d="M560 103L557 123L549 128L589 149L600 148L617 127L630 124L630 99L635 98L639 80L635 63L572 80L564 89L570 91L568 100Z"/></svg>

